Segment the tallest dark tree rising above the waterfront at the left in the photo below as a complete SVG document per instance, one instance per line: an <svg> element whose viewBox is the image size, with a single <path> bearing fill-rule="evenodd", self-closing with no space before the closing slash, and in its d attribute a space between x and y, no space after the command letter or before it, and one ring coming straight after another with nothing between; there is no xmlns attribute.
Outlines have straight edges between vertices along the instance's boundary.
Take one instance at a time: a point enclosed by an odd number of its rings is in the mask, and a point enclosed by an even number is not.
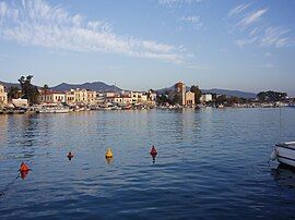
<svg viewBox="0 0 295 220"><path fill-rule="evenodd" d="M32 78L33 75L22 76L19 82L22 87L22 98L27 99L31 105L34 105L38 102L39 91L37 86L31 84Z"/></svg>

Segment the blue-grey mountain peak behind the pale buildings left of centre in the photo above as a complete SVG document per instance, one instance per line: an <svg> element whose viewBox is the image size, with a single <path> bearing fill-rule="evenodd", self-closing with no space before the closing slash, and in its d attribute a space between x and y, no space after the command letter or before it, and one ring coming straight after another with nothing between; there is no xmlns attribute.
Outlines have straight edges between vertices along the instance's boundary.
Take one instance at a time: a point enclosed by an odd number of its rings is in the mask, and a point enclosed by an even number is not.
<svg viewBox="0 0 295 220"><path fill-rule="evenodd" d="M70 90L71 88L81 88L81 89L91 89L96 91L106 91L106 90L117 90L120 91L119 87L115 85L107 85L103 82L93 82L93 83L84 83L84 84L67 84L62 83L55 87L50 87L52 90Z"/></svg>

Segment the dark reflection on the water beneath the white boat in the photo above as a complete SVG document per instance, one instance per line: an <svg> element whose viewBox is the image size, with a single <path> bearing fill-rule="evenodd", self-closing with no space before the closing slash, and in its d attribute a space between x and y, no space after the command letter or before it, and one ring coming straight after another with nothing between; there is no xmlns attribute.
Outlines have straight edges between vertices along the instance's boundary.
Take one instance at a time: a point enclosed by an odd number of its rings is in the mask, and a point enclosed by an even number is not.
<svg viewBox="0 0 295 220"><path fill-rule="evenodd" d="M278 185L282 187L295 187L295 168L280 163L276 169L271 170L271 174Z"/></svg>

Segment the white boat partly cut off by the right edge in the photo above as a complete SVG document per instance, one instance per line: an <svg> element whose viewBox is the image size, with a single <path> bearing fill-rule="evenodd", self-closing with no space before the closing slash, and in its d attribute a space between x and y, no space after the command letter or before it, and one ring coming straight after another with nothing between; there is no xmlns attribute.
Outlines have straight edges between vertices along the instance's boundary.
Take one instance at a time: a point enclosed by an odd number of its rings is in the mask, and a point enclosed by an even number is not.
<svg viewBox="0 0 295 220"><path fill-rule="evenodd" d="M295 142L276 144L270 159L295 167Z"/></svg>

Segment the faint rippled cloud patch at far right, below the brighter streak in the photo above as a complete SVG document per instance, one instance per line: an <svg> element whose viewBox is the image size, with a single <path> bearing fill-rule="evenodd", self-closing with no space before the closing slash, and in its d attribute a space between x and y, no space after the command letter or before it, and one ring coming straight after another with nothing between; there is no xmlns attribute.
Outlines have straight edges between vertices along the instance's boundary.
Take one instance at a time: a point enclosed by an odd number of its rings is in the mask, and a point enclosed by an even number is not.
<svg viewBox="0 0 295 220"><path fill-rule="evenodd" d="M261 38L261 46L274 46L281 48L291 44L291 39L286 36L290 29L284 27L268 27L264 36Z"/></svg>

